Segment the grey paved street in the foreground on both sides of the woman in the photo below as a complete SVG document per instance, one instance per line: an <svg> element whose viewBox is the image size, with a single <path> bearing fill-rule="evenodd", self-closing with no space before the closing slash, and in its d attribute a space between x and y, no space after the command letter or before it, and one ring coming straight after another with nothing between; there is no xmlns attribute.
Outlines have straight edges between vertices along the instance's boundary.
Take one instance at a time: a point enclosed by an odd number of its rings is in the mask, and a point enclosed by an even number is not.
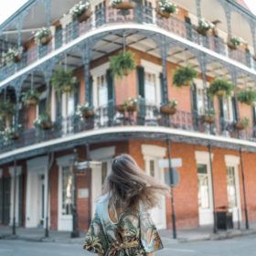
<svg viewBox="0 0 256 256"><path fill-rule="evenodd" d="M175 243L165 241L156 256L255 256L256 235L233 240ZM0 240L1 256L90 256L80 244ZM95 254L94 254L95 255ZM132 255L131 255L132 256Z"/></svg>

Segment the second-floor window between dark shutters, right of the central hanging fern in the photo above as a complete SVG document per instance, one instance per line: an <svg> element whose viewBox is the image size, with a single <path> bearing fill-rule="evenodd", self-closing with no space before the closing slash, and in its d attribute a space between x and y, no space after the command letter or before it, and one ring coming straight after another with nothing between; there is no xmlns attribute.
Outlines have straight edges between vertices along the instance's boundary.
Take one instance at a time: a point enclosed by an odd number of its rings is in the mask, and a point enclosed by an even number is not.
<svg viewBox="0 0 256 256"><path fill-rule="evenodd" d="M145 100L148 103L156 103L156 75L153 73L145 72L144 74L144 94Z"/></svg>

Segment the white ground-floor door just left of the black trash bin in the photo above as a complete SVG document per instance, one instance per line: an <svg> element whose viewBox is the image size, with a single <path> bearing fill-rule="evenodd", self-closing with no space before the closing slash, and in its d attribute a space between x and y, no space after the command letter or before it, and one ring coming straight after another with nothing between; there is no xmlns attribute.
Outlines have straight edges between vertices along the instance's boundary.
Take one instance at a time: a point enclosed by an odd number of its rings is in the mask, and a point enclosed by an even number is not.
<svg viewBox="0 0 256 256"><path fill-rule="evenodd" d="M213 200L209 165L197 164L199 225L213 223Z"/></svg>

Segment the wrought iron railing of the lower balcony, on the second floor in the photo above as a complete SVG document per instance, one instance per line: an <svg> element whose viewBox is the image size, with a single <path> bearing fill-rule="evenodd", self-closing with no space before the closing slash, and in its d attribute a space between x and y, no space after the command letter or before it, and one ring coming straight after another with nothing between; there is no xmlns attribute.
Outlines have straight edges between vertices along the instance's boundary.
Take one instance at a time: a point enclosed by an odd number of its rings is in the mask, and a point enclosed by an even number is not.
<svg viewBox="0 0 256 256"><path fill-rule="evenodd" d="M202 121L202 116L197 113L177 111L174 115L166 115L160 112L159 106L145 104L140 101L135 112L120 112L119 106L110 102L105 107L94 110L92 117L81 119L77 115L67 118L59 118L48 130L31 128L20 131L16 140L0 139L0 154L22 148L27 145L47 142L53 139L67 137L75 133L101 129L104 127L123 126L162 126L189 132L208 133L219 136L228 136L256 142L256 130L246 129L238 132L234 129L234 123L225 120L215 120L208 124Z"/></svg>

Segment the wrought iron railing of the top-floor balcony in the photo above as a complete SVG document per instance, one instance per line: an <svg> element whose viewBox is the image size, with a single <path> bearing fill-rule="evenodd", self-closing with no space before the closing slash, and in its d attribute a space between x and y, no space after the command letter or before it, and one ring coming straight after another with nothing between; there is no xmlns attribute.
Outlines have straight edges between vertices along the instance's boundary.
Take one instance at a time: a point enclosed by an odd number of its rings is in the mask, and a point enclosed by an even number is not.
<svg viewBox="0 0 256 256"><path fill-rule="evenodd" d="M223 38L199 35L193 25L178 19L175 16L171 16L169 19L162 18L156 14L155 9L143 5L128 11L128 14L126 13L126 15L123 15L122 11L112 7L102 7L96 10L86 22L70 22L67 27L57 29L53 39L47 46L34 46L28 48L27 51L24 52L23 59L19 63L11 63L2 67L0 69L0 76L2 80L4 80L18 70L24 69L37 61L37 59L45 57L50 52L67 45L75 38L81 37L95 28L123 23L153 25L163 28L179 37L187 38L200 46L227 56L230 59L235 59L249 68L256 69L256 63L249 51L241 49L230 50Z"/></svg>

